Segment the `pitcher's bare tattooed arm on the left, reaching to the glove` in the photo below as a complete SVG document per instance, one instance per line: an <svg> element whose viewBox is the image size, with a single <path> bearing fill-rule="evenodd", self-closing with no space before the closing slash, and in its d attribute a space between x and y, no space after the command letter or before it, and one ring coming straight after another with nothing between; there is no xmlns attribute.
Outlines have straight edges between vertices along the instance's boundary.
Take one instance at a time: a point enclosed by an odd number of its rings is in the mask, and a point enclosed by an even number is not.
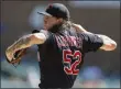
<svg viewBox="0 0 121 89"><path fill-rule="evenodd" d="M8 59L11 60L14 57L15 52L23 48L28 48L34 44L43 44L45 41L46 41L46 36L43 33L34 33L22 36L7 48L6 55Z"/></svg>

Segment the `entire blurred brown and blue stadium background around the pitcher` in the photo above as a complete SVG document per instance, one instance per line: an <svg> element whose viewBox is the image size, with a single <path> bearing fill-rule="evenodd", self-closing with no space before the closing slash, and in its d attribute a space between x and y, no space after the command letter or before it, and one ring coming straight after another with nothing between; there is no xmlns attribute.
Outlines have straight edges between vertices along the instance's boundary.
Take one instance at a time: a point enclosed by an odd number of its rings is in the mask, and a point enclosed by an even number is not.
<svg viewBox="0 0 121 89"><path fill-rule="evenodd" d="M2 1L1 3L1 88L37 88L40 81L36 46L28 51L20 66L6 62L4 51L20 36L42 29L42 16L52 2L62 2L72 20L86 30L106 34L118 43L113 52L89 53L75 82L75 88L120 87L120 2L119 1Z"/></svg>

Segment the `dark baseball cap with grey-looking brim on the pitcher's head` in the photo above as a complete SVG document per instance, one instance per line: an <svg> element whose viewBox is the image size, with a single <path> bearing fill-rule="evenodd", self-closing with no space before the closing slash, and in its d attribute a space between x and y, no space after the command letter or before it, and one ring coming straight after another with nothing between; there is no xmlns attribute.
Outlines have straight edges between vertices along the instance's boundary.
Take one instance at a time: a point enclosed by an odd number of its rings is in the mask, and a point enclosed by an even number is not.
<svg viewBox="0 0 121 89"><path fill-rule="evenodd" d="M52 15L56 18L63 18L64 20L69 20L70 18L68 9L62 3L48 4L45 12L37 12L37 13L44 15Z"/></svg>

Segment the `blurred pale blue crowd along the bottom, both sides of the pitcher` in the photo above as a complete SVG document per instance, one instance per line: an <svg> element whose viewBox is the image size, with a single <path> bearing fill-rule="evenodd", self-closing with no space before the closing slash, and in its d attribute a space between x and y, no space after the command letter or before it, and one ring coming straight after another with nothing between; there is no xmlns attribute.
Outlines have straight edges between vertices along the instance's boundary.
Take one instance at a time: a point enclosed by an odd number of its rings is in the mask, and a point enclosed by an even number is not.
<svg viewBox="0 0 121 89"><path fill-rule="evenodd" d="M16 68L6 60L1 63L1 88L38 88L37 63L22 63ZM74 88L120 88L120 76L105 76L97 66L84 67Z"/></svg>

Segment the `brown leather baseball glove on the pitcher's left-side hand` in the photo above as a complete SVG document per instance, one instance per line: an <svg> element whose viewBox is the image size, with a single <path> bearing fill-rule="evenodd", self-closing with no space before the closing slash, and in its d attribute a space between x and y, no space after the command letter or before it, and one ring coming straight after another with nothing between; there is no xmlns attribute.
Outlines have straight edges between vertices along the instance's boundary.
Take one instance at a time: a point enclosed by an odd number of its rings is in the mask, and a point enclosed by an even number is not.
<svg viewBox="0 0 121 89"><path fill-rule="evenodd" d="M10 64L12 64L13 66L15 66L16 64L19 65L21 59L22 59L22 57L25 55L25 53L26 53L26 48L20 49L20 51L14 53L14 58L11 62L8 58L7 58L7 60Z"/></svg>

